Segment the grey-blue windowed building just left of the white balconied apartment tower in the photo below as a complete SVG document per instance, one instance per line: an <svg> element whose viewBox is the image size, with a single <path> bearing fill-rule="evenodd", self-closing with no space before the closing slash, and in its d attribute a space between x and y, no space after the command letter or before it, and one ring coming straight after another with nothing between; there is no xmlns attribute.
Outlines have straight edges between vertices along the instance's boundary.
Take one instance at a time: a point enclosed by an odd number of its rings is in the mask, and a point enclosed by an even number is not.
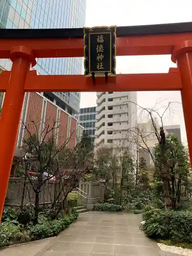
<svg viewBox="0 0 192 256"><path fill-rule="evenodd" d="M95 144L96 106L80 109L79 122L80 125L83 126L83 134L90 136L92 138L93 144Z"/></svg>

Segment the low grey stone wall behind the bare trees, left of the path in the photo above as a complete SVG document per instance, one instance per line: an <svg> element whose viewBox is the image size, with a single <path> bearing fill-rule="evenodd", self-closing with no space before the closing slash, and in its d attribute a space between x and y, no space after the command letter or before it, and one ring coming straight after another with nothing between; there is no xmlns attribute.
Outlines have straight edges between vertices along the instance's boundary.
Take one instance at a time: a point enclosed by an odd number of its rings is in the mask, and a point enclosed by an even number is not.
<svg viewBox="0 0 192 256"><path fill-rule="evenodd" d="M25 186L26 184L26 186ZM49 180L42 186L41 192L39 194L40 204L50 204L53 202L55 194L58 195L60 191L61 183L55 183L53 180ZM67 189L67 187L66 187ZM82 199L84 206L88 208L93 208L95 203L103 202L104 200L104 186L99 182L80 182L79 183L78 195ZM32 185L27 180L25 183L25 178L10 178L7 190L7 203L11 205L20 205L22 199L24 199L24 204L35 202L35 193L33 191Z"/></svg>

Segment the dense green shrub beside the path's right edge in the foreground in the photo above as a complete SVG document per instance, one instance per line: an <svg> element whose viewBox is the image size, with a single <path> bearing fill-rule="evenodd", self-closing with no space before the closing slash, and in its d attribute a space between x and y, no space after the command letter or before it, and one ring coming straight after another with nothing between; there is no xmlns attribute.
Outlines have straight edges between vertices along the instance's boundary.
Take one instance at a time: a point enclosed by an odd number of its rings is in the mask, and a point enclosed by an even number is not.
<svg viewBox="0 0 192 256"><path fill-rule="evenodd" d="M142 229L153 239L172 240L175 243L192 242L192 212L146 207Z"/></svg>

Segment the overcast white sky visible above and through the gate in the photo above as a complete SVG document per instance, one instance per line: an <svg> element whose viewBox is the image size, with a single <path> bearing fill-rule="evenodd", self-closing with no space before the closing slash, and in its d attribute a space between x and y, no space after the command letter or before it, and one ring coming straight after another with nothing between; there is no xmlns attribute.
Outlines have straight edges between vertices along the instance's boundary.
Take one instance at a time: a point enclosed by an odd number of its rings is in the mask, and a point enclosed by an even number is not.
<svg viewBox="0 0 192 256"><path fill-rule="evenodd" d="M134 26L192 21L191 0L87 0L86 26ZM117 73L166 73L176 67L169 55L117 57ZM138 104L153 108L172 104L164 125L180 124L186 141L180 92L138 92ZM81 93L81 108L96 105L96 93ZM139 120L138 120L139 121ZM142 120L144 121L144 120Z"/></svg>

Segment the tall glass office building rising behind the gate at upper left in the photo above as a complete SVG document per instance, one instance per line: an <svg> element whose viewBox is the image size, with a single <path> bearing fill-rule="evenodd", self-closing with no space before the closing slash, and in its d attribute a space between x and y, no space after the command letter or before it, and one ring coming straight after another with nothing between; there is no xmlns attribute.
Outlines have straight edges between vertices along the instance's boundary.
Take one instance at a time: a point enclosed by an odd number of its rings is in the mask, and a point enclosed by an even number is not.
<svg viewBox="0 0 192 256"><path fill-rule="evenodd" d="M86 0L0 0L0 24L7 29L82 28L86 17ZM3 69L11 61L0 59ZM38 59L39 74L82 74L82 58ZM68 111L79 112L80 93L47 93L50 100Z"/></svg>

